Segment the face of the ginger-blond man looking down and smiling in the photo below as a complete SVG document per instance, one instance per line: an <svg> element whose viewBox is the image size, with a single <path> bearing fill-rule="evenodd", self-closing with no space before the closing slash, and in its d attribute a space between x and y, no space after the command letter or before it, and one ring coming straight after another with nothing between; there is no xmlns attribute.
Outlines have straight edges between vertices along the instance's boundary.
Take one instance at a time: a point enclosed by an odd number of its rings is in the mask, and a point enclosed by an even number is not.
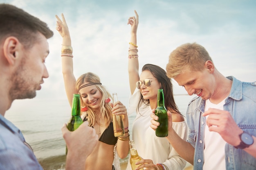
<svg viewBox="0 0 256 170"><path fill-rule="evenodd" d="M189 95L196 94L204 100L211 98L215 91L213 74L207 68L202 71L193 71L186 67L174 80L183 86Z"/></svg>

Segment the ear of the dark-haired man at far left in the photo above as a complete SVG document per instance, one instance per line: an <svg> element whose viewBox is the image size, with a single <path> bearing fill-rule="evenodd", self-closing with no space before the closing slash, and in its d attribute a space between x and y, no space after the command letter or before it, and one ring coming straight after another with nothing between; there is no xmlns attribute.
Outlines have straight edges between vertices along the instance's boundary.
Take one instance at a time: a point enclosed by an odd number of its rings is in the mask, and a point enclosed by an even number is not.
<svg viewBox="0 0 256 170"><path fill-rule="evenodd" d="M16 53L19 49L20 42L16 37L7 37L7 39L4 40L3 44L3 52L4 57L6 58L7 62L11 65L14 64L16 60Z"/></svg>

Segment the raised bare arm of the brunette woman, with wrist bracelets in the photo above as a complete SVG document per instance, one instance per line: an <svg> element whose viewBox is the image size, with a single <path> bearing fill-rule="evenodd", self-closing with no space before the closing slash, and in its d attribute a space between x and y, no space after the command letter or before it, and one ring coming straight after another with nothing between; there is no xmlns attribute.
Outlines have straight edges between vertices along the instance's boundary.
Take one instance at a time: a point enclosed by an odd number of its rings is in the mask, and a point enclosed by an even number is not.
<svg viewBox="0 0 256 170"><path fill-rule="evenodd" d="M139 81L139 61L137 50L137 28L139 24L139 16L134 10L136 17L129 17L128 24L131 25L131 39L128 52L128 74L131 94L135 91L136 82Z"/></svg>

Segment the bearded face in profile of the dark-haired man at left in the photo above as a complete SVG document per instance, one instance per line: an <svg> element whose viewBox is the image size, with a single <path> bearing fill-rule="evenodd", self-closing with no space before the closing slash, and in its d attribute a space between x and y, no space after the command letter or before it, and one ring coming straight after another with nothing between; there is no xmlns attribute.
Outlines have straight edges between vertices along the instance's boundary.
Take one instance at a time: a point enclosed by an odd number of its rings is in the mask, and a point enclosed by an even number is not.
<svg viewBox="0 0 256 170"><path fill-rule="evenodd" d="M20 57L20 64L13 73L10 97L14 99L34 98L36 90L41 89L43 78L49 74L45 66L45 59L49 54L47 39L38 33L36 43L29 49L21 48L16 52L16 58Z"/></svg>

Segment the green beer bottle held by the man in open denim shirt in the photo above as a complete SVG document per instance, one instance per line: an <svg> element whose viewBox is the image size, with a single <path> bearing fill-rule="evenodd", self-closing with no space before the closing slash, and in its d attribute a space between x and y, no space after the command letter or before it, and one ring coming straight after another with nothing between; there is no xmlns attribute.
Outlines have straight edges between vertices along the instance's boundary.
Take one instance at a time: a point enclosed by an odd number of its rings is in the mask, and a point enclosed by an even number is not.
<svg viewBox="0 0 256 170"><path fill-rule="evenodd" d="M157 122L160 125L155 129L155 135L157 137L168 136L168 116L167 109L164 106L164 90L158 89L157 92L157 109L155 110L155 115L158 116Z"/></svg>

